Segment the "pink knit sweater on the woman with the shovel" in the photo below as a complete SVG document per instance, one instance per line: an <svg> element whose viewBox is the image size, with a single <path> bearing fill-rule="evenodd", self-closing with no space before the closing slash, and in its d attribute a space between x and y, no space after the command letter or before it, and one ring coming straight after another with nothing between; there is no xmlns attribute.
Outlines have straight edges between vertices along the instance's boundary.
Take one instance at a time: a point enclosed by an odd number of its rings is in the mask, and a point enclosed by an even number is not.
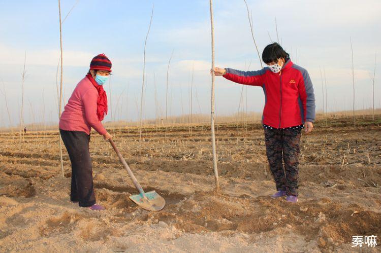
<svg viewBox="0 0 381 253"><path fill-rule="evenodd" d="M59 120L59 128L90 134L92 127L99 134L107 133L97 116L97 99L97 89L85 77L77 84L68 104L65 105Z"/></svg>

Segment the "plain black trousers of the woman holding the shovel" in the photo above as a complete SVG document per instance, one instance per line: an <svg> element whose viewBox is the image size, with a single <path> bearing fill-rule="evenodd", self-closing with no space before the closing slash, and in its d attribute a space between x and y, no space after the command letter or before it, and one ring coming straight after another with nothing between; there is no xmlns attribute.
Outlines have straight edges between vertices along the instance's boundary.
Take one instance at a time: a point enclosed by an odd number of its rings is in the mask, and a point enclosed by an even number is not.
<svg viewBox="0 0 381 253"><path fill-rule="evenodd" d="M79 206L96 203L92 183L92 167L89 152L90 135L82 131L59 129L63 143L72 163L72 185L70 200L78 201Z"/></svg>

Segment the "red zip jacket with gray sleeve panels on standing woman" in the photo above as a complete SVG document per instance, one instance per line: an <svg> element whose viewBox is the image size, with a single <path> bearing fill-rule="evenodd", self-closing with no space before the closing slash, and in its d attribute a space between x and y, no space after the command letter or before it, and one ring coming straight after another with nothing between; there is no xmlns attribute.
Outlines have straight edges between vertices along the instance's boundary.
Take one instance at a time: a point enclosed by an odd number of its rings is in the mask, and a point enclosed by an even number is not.
<svg viewBox="0 0 381 253"><path fill-rule="evenodd" d="M226 68L224 77L239 84L261 86L265 93L262 123L274 128L287 128L313 122L315 96L307 70L291 60L280 73L268 67L258 71Z"/></svg>

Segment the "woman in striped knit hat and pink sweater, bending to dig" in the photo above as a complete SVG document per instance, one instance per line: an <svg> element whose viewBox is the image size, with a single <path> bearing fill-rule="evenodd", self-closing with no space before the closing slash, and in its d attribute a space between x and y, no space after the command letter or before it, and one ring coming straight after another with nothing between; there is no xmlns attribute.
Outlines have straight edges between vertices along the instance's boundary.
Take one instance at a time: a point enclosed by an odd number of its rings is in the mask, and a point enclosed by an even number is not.
<svg viewBox="0 0 381 253"><path fill-rule="evenodd" d="M111 61L105 54L92 58L87 75L77 84L59 120L59 132L72 163L70 200L91 210L105 209L94 195L89 141L91 128L105 140L112 138L101 123L107 115L102 85L110 73Z"/></svg>

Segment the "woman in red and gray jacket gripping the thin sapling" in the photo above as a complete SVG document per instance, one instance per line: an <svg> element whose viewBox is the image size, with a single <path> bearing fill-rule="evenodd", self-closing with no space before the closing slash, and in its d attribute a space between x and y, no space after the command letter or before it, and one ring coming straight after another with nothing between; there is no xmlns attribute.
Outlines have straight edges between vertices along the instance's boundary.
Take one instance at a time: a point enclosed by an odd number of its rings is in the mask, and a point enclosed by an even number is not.
<svg viewBox="0 0 381 253"><path fill-rule="evenodd" d="M286 196L296 203L301 131L310 133L315 119L313 87L307 70L294 64L279 44L266 46L262 60L268 66L261 70L215 67L214 73L235 83L262 87L266 154L277 191L271 197Z"/></svg>

